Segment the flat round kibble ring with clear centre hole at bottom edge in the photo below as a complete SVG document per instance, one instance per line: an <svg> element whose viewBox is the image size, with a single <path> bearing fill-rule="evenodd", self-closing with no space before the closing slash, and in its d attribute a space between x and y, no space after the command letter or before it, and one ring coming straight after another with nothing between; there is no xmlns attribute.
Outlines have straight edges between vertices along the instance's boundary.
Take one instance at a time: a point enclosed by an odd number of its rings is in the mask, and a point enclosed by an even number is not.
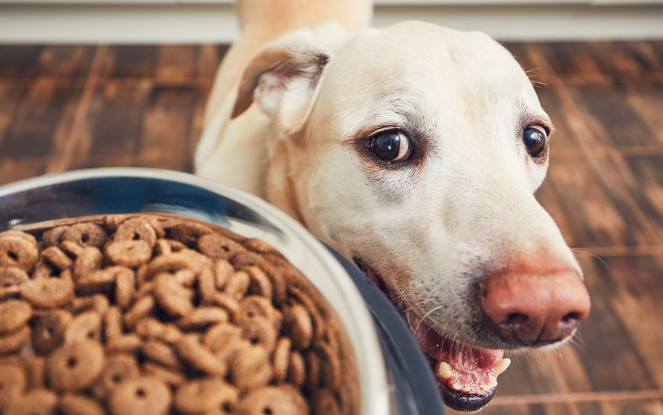
<svg viewBox="0 0 663 415"><path fill-rule="evenodd" d="M154 377L139 377L117 386L108 399L111 415L166 415L171 391Z"/></svg>

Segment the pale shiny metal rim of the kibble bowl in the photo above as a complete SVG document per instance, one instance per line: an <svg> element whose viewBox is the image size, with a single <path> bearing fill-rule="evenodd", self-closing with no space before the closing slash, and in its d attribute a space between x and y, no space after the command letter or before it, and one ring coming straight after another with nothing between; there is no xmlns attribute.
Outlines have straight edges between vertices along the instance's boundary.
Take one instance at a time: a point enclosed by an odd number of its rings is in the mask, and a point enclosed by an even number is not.
<svg viewBox="0 0 663 415"><path fill-rule="evenodd" d="M352 282L350 276L345 272L345 269L343 269L343 266L334 258L332 253L327 251L327 248L325 248L322 242L308 232L303 225L288 216L287 213L269 204L264 199L251 195L248 192L243 192L242 190L237 190L227 185L180 171L145 167L102 167L46 174L1 185L0 200L3 197L10 197L39 188L48 188L53 185L107 178L157 179L213 192L215 195L234 200L234 202L238 202L243 206L257 211L265 218L273 221L276 227L283 230L285 234L294 237L310 249L310 254L320 262L320 270L333 277L336 293L330 293L328 290L323 292L315 281L311 281L306 276L307 272L302 270L302 273L313 283L320 294L332 304L334 311L336 311L338 318L345 328L345 332L348 333L359 374L359 407L361 414L385 415L392 413L391 388L387 381L385 358L380 348L373 318L366 304L364 304L362 295ZM288 260L291 260L295 267L299 267L297 260L292 260L286 253L283 253L283 255ZM342 277L338 278L338 276Z"/></svg>

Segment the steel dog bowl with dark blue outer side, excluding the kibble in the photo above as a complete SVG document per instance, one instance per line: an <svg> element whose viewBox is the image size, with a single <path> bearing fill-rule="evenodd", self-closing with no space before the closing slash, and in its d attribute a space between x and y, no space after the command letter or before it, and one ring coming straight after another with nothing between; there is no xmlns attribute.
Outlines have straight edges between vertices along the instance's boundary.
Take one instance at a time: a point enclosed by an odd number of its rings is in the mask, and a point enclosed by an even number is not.
<svg viewBox="0 0 663 415"><path fill-rule="evenodd" d="M277 248L313 283L350 337L363 415L444 414L425 356L384 295L331 248L271 204L191 174L90 169L0 187L0 231L107 213L173 213Z"/></svg>

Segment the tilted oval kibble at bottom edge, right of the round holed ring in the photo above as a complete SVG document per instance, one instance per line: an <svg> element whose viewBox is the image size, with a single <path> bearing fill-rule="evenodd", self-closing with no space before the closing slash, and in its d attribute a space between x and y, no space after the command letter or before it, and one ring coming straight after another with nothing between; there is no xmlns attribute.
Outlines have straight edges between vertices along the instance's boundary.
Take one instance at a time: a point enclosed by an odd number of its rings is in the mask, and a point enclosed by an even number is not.
<svg viewBox="0 0 663 415"><path fill-rule="evenodd" d="M175 408L185 415L199 415L224 406L234 407L238 400L236 388L220 379L201 379L178 388Z"/></svg>

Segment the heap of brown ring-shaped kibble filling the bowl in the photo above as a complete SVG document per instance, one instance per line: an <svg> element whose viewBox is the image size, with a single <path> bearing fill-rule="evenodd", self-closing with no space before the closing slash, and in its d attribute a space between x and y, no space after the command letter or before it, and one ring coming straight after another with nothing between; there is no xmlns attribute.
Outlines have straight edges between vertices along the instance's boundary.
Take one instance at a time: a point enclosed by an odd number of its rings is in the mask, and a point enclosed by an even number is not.
<svg viewBox="0 0 663 415"><path fill-rule="evenodd" d="M357 414L347 339L274 248L176 216L0 233L0 414Z"/></svg>

